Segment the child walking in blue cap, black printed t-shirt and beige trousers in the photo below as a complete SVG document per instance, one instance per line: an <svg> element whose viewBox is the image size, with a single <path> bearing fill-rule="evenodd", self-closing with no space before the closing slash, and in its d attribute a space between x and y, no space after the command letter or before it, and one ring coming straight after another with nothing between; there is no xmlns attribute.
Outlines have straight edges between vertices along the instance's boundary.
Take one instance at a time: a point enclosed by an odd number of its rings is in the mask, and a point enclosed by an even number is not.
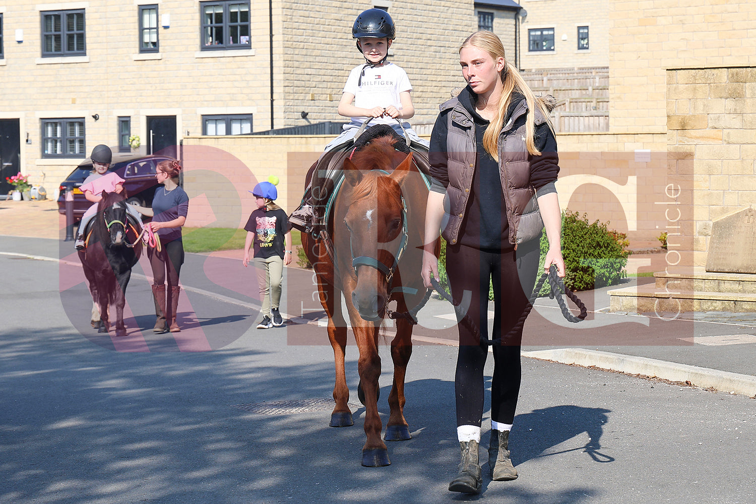
<svg viewBox="0 0 756 504"><path fill-rule="evenodd" d="M257 329L283 326L283 317L278 311L281 280L283 265L291 262L289 221L287 213L274 203L274 199L278 197L274 184L278 180L277 177L271 179L273 180L260 182L254 190L249 191L257 199L257 209L249 215L249 221L244 226L247 233L242 262L244 266L249 265L249 247L254 244L253 257L262 298L262 321Z"/></svg>

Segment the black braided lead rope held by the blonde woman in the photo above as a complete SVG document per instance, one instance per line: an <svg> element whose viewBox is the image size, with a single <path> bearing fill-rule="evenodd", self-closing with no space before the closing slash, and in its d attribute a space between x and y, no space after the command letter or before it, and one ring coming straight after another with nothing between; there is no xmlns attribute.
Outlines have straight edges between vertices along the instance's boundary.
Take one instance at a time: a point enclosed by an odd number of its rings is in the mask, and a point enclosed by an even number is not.
<svg viewBox="0 0 756 504"><path fill-rule="evenodd" d="M477 333L479 335L481 345L483 345L484 343L485 345L500 345L503 340L509 339L511 336L519 332L520 329L522 329L523 324L525 324L525 319L528 318L530 311L533 309L533 303L535 299L538 298L538 292L541 291L541 287L544 285L544 281L546 281L547 279L549 280L549 297L552 299L556 298L556 302L559 304L559 309L562 311L562 315L564 315L565 319L569 320L569 322L572 323L578 323L581 320L584 320L585 317L587 317L588 312L585 308L585 305L583 304L583 301L581 301L574 292L572 292L570 289L567 289L562 279L559 278L558 274L556 274L556 266L552 264L549 268L549 273L544 273L543 275L541 275L541 278L538 279L538 282L533 289L533 293L530 295L530 298L528 298L528 304L525 306L525 310L522 311L522 315L520 315L517 323L513 326L512 329L510 329L510 332L507 332L506 335L503 335L501 338L497 339L485 339L483 335L480 334L476 324L473 323L470 319L469 314L461 314L463 308L460 308L459 303L454 303L454 301L451 299L451 296L448 295L442 288L442 286L438 284L438 281L435 280L435 278L431 278L430 282L433 286L433 289L438 292L438 295L449 301L454 307L454 312L457 314L457 320L461 319L460 323L465 325L470 332L472 332L473 334ZM428 289L428 291L430 292L431 289ZM564 294L568 298L570 298L573 303L575 303L575 306L580 309L580 314L577 317L570 313L569 308L567 308L567 304L565 303L564 299L562 299L562 292L564 292Z"/></svg>

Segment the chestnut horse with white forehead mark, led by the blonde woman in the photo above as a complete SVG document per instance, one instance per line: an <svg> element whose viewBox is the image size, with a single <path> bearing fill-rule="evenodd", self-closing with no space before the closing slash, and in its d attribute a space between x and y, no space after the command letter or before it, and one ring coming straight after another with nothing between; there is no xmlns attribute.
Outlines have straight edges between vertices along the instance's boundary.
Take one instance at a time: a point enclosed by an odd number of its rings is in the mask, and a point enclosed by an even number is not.
<svg viewBox="0 0 756 504"><path fill-rule="evenodd" d="M358 395L365 406L367 436L362 465L367 467L391 464L381 439L382 424L376 404L381 373L379 332L389 302L396 302L395 312L404 313L415 308L426 293L420 266L429 187L413 162L413 153L396 151L395 141L390 136L375 138L353 153L351 159L344 159L343 178L336 184L327 212L333 261L323 237L316 240L302 233L302 246L317 274L318 293L328 315L328 337L336 363L333 387L336 406L330 426L353 425L344 371L347 326L342 314L343 293L359 348ZM396 320L396 335L391 341L394 380L389 394L387 441L411 438L403 410L412 328L407 318Z"/></svg>

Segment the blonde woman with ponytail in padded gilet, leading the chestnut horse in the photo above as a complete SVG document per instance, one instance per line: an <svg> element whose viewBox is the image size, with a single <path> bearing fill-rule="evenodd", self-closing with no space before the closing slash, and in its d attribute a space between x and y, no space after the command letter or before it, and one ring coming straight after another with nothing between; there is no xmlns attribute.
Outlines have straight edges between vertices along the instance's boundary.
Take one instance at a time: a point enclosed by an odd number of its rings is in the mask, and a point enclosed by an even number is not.
<svg viewBox="0 0 756 504"><path fill-rule="evenodd" d="M507 62L503 45L492 32L475 32L463 42L460 65L467 86L442 104L431 135L435 180L428 196L425 243L429 246L422 275L426 286L431 274L438 277L432 243L445 221L442 236L447 241L452 297L459 302L463 293L472 294L467 313L474 325L457 325L460 346L454 388L461 463L449 490L479 493L483 367L488 357L488 345L480 339L488 339L489 285L494 292L491 339L498 339L516 325L532 292L544 226L549 240L546 268L556 264L563 277L565 267L554 187L559 158L547 106ZM540 215L534 211L537 208ZM517 478L509 434L522 374L521 340L522 329L493 348L488 465L494 481Z"/></svg>

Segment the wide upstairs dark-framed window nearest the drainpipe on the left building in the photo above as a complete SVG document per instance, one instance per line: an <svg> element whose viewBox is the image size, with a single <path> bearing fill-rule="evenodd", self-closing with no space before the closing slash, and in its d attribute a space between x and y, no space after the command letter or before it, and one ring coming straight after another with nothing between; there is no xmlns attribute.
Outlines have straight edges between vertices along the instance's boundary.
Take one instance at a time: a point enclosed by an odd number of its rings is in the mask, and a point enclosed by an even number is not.
<svg viewBox="0 0 756 504"><path fill-rule="evenodd" d="M201 2L203 51L249 48L249 2Z"/></svg>

